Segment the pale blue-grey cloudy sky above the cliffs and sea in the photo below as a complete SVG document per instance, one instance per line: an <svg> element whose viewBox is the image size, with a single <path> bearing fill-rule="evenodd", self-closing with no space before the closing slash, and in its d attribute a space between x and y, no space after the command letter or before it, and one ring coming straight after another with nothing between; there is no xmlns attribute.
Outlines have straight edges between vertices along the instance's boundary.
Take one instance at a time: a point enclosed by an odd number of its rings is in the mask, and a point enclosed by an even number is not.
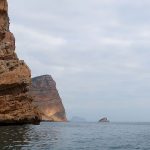
<svg viewBox="0 0 150 150"><path fill-rule="evenodd" d="M8 2L19 58L52 75L69 119L150 121L150 1Z"/></svg>

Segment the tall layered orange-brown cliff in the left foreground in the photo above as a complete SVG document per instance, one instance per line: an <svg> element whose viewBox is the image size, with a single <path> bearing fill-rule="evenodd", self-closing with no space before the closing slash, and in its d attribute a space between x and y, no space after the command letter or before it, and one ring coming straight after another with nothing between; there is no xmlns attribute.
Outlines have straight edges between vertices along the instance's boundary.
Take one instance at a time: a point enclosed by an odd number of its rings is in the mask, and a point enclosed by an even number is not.
<svg viewBox="0 0 150 150"><path fill-rule="evenodd" d="M0 125L39 122L40 114L27 93L30 83L30 69L15 53L7 0L0 0Z"/></svg>

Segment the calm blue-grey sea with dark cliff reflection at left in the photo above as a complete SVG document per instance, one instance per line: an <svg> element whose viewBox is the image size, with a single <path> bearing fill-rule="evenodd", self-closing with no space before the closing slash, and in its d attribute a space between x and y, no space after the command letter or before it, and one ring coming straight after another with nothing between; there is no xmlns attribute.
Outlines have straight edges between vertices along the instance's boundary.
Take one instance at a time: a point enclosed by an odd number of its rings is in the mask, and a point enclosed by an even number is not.
<svg viewBox="0 0 150 150"><path fill-rule="evenodd" d="M150 150L150 123L0 127L0 150Z"/></svg>

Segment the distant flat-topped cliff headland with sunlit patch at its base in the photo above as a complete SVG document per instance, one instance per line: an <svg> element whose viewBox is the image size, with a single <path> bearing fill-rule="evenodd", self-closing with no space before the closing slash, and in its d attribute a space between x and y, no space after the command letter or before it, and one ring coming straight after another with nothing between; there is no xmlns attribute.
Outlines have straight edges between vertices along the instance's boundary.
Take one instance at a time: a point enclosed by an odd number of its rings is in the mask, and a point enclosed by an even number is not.
<svg viewBox="0 0 150 150"><path fill-rule="evenodd" d="M56 83L50 75L33 78L30 94L34 105L42 112L43 121L67 121Z"/></svg>

